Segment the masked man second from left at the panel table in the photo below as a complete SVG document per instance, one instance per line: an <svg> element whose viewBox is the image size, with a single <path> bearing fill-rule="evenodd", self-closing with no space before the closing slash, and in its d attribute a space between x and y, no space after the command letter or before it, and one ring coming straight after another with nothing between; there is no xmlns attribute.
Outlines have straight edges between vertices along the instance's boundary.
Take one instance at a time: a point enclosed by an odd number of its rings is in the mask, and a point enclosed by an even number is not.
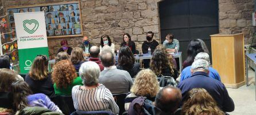
<svg viewBox="0 0 256 115"><path fill-rule="evenodd" d="M82 43L82 45L80 45L80 47L83 49L84 57L90 57L89 50L92 46L94 46L94 45L92 45L92 43L89 41L89 38L87 36L84 36L83 43Z"/></svg>

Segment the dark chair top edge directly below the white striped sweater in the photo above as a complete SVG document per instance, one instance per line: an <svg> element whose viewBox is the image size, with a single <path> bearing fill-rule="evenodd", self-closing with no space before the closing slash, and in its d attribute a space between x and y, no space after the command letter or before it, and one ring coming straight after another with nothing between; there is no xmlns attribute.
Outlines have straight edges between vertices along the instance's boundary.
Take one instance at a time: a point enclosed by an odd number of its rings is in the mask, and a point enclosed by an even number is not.
<svg viewBox="0 0 256 115"><path fill-rule="evenodd" d="M114 115L114 113L108 111L76 111L71 113L70 115Z"/></svg>

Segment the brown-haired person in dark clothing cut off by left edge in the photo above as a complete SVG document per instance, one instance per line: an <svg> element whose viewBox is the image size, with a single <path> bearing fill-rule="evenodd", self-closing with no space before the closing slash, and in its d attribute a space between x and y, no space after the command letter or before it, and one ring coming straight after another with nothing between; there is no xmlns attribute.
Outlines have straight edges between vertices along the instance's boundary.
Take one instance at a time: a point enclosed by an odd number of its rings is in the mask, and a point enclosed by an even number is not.
<svg viewBox="0 0 256 115"><path fill-rule="evenodd" d="M13 108L13 93L10 92L11 84L17 75L10 69L0 69L0 108Z"/></svg>

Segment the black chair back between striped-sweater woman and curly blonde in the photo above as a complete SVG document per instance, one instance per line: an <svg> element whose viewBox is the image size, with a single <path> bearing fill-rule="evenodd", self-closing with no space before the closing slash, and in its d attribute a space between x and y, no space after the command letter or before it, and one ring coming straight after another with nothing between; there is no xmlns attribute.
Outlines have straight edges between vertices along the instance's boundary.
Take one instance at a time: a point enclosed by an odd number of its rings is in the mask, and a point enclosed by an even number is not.
<svg viewBox="0 0 256 115"><path fill-rule="evenodd" d="M127 93L119 93L119 94L113 94L113 97L115 99L115 102L117 103L119 107L119 114L122 114L125 112L125 98L127 96Z"/></svg>

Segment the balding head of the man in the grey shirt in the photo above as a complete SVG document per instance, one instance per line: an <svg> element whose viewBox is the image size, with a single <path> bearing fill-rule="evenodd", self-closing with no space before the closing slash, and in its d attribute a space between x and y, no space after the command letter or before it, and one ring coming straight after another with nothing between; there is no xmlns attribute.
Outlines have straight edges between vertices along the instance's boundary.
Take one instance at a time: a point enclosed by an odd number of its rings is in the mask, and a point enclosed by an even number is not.
<svg viewBox="0 0 256 115"><path fill-rule="evenodd" d="M115 58L111 51L105 50L100 54L100 61L102 61L102 65L105 67L110 67L115 65Z"/></svg>

